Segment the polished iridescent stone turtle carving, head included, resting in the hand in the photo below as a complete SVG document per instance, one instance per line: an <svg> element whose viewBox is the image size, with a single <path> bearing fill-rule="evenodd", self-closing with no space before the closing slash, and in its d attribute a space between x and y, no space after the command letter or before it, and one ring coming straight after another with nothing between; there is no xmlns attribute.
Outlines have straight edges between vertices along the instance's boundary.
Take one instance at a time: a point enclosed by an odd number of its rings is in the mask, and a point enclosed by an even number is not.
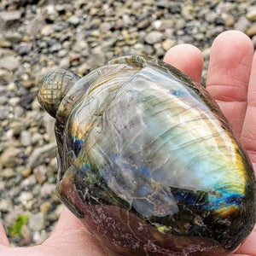
<svg viewBox="0 0 256 256"><path fill-rule="evenodd" d="M56 71L38 98L56 119L58 195L111 249L228 255L253 230L247 154L207 90L175 67L131 55L82 79Z"/></svg>

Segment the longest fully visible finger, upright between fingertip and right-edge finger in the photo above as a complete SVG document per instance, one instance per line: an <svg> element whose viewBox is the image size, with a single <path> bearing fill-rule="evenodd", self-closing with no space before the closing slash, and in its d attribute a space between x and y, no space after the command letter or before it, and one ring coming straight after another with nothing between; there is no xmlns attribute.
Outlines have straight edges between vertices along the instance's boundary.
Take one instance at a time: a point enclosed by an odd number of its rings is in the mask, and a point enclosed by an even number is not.
<svg viewBox="0 0 256 256"><path fill-rule="evenodd" d="M212 44L207 90L217 100L238 136L247 108L252 60L253 43L242 32L223 32Z"/></svg>

